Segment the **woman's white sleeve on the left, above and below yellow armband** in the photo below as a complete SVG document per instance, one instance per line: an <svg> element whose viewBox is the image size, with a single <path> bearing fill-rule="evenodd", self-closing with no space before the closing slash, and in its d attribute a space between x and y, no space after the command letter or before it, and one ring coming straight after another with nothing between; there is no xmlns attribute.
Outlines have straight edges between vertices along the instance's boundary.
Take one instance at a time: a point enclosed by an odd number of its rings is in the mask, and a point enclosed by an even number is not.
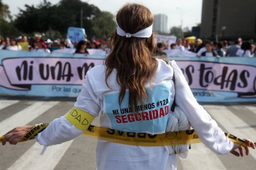
<svg viewBox="0 0 256 170"><path fill-rule="evenodd" d="M86 74L82 91L77 98L75 107L78 107L96 117L99 114L100 107L98 103L95 103L95 101L99 102L99 99L93 92L89 72L90 71ZM37 135L36 138L40 145L51 146L72 140L83 132L84 131L71 124L65 116L61 116L60 118L54 119L44 131Z"/></svg>

